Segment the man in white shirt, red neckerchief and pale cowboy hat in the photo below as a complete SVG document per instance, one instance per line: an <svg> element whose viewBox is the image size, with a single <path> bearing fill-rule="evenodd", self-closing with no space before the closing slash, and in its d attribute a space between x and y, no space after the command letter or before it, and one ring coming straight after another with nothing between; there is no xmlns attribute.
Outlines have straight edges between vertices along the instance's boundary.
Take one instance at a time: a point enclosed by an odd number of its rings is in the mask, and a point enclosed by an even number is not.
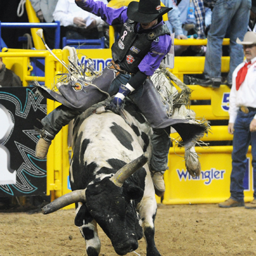
<svg viewBox="0 0 256 256"><path fill-rule="evenodd" d="M245 61L232 74L232 88L229 96L228 131L234 135L232 151L231 197L222 208L244 206L243 179L246 170L246 153L252 145L253 201L245 208L256 209L256 33L246 32L243 41Z"/></svg>

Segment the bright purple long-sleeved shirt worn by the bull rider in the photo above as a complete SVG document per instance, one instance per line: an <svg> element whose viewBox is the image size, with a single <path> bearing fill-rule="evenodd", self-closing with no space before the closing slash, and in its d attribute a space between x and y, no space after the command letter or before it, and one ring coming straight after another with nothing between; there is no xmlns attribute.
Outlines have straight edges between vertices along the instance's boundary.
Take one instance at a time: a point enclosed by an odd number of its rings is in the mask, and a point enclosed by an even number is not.
<svg viewBox="0 0 256 256"><path fill-rule="evenodd" d="M107 7L101 1L94 2L93 0L78 1L76 4L83 10L89 11L90 13L101 17L102 20L107 22L109 25L124 24L126 20L128 20L126 6L116 9ZM155 27L162 24L163 20ZM152 29L153 28L154 27L152 27ZM140 24L137 24L136 29L140 29ZM154 71L158 69L161 61L170 51L172 46L172 39L170 35L165 34L163 36L159 36L158 38L159 40L155 39L152 41L150 51L145 55L138 65L138 69L147 76L152 76L152 74L154 74Z"/></svg>

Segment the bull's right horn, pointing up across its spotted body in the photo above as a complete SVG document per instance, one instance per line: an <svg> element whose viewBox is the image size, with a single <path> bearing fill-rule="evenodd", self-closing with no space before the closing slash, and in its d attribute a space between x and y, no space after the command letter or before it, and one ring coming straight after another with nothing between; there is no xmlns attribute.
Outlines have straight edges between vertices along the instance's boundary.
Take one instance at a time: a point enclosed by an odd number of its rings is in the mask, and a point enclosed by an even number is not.
<svg viewBox="0 0 256 256"><path fill-rule="evenodd" d="M138 158L134 159L133 161L119 169L118 172L116 172L110 180L118 187L121 187L126 179L133 175L133 173L135 173L140 167L144 166L145 163L147 163L148 158L149 153L145 152Z"/></svg>

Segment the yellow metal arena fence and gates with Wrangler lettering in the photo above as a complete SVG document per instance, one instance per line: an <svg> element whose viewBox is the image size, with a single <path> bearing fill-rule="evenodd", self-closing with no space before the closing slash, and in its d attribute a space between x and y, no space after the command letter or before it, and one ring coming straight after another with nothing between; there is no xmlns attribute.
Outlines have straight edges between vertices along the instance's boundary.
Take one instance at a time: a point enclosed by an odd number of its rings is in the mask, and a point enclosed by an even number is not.
<svg viewBox="0 0 256 256"><path fill-rule="evenodd" d="M199 40L195 40L197 43ZM203 44L203 42L202 42ZM55 55L66 63L69 51L53 50ZM95 62L96 69L104 69L111 61L110 49L77 50L79 58L90 57ZM21 77L24 86L29 86L31 81L53 86L55 75L64 72L62 65L46 50L14 50L4 48L0 53L6 67L15 71ZM32 64L41 60L44 70L36 72L37 67ZM85 60L85 58L84 58ZM170 70L180 79L184 74L200 74L203 72L205 57L175 57L175 68ZM222 71L229 70L229 57L222 57ZM227 120L229 108L229 88L222 84L218 89L203 88L198 85L189 86L192 89L192 101L206 100L208 105L191 105L196 116L212 121ZM48 100L47 112L58 106L57 102ZM67 144L67 127L64 127L55 137L50 146L47 158L47 194L52 199L58 198L71 191L69 176L69 152ZM177 138L178 134L171 137ZM185 163L180 156L184 150L171 147L169 154L169 170L165 173L166 192L163 197L164 204L189 204L189 203L219 203L229 197L229 184L231 174L232 136L227 133L226 125L213 125L208 136L203 137L203 142L223 142L227 145L211 145L208 149L196 147L202 167L198 178L192 178L185 170ZM253 199L252 184L252 155L248 152L248 172L245 175L245 201ZM158 203L160 199L157 198ZM69 206L74 207L74 205Z"/></svg>

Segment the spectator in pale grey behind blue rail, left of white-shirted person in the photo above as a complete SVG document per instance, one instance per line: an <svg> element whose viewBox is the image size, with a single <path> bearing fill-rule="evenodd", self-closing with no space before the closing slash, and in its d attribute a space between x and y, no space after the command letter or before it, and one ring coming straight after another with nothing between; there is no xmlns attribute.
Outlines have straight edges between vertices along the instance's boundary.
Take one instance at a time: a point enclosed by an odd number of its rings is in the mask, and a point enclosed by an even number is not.
<svg viewBox="0 0 256 256"><path fill-rule="evenodd" d="M54 22L53 11L58 0L30 0L40 22ZM44 28L44 39L49 48L55 46L55 29Z"/></svg>

